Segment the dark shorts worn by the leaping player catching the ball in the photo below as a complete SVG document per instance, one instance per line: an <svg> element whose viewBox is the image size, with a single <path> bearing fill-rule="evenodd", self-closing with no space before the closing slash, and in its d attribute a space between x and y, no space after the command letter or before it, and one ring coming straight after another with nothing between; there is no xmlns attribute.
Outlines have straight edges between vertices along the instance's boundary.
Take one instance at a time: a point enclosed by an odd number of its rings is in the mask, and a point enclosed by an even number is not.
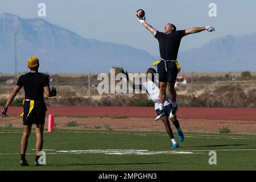
<svg viewBox="0 0 256 182"><path fill-rule="evenodd" d="M158 63L157 68L159 74L159 82L171 82L175 84L178 70L174 61L166 61L165 66L164 61L161 60L160 63Z"/></svg>

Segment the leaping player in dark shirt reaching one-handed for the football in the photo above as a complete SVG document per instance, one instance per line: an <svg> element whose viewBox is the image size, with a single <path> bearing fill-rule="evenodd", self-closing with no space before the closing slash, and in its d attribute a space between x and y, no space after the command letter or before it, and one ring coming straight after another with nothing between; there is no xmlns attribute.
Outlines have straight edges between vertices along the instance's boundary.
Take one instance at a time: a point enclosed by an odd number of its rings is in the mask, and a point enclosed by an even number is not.
<svg viewBox="0 0 256 182"><path fill-rule="evenodd" d="M181 39L188 34L195 34L197 32L201 32L207 30L209 32L214 31L213 27L206 26L206 27L197 27L197 28L190 28L187 30L177 30L174 24L168 23L164 27L164 32L159 32L155 28L153 28L150 24L148 24L145 20L146 18L138 18L139 22L143 24L147 30L149 30L159 42L159 50L161 61L157 65L158 73L159 73L159 106L160 112L158 117L155 120L160 119L166 113L164 113L164 98L166 93L168 97L172 100L172 110L170 113L170 118L173 118L177 111L177 103L176 103L176 91L174 89L178 69L176 66L177 63L177 53L179 51L179 46ZM167 88L167 92L166 92Z"/></svg>

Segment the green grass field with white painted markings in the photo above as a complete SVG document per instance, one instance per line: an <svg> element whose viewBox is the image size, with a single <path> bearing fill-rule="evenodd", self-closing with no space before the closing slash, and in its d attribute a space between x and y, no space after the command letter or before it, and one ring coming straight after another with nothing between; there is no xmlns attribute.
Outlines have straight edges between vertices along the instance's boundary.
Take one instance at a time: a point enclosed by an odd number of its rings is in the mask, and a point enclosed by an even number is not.
<svg viewBox="0 0 256 182"><path fill-rule="evenodd" d="M32 129L27 160L34 163ZM22 129L0 128L0 170L255 170L256 135L185 133L172 149L166 133L55 130L44 133L46 166L20 167ZM217 152L210 165L209 151Z"/></svg>

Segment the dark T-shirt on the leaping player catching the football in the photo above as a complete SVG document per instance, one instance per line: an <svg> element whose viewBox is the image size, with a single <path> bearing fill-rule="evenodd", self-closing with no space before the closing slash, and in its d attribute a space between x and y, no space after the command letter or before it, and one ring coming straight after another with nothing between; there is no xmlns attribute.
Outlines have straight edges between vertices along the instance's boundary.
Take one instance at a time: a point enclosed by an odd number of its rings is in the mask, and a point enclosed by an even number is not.
<svg viewBox="0 0 256 182"><path fill-rule="evenodd" d="M159 42L161 58L164 60L176 60L180 41L185 35L185 30L177 30L171 34L156 31L155 38Z"/></svg>

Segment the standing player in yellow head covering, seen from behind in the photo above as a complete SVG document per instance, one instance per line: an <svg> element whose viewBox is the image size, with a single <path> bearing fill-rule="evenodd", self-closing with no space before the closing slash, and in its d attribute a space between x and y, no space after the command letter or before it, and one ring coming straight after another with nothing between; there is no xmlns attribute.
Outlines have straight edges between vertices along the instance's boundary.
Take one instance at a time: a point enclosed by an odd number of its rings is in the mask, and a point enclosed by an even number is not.
<svg viewBox="0 0 256 182"><path fill-rule="evenodd" d="M15 88L7 99L6 105L2 110L2 117L7 117L8 106L23 86L25 98L23 101L23 113L20 115L23 117L23 135L20 141L20 166L28 166L26 150L33 123L36 125L35 166L40 166L38 164L40 157L38 152L42 151L43 148L44 120L47 110L46 104L44 103L44 93L46 93L47 97L55 97L57 92L55 88L50 90L48 76L38 72L39 60L36 57L33 56L28 59L28 68L30 68L30 72L19 77Z"/></svg>

